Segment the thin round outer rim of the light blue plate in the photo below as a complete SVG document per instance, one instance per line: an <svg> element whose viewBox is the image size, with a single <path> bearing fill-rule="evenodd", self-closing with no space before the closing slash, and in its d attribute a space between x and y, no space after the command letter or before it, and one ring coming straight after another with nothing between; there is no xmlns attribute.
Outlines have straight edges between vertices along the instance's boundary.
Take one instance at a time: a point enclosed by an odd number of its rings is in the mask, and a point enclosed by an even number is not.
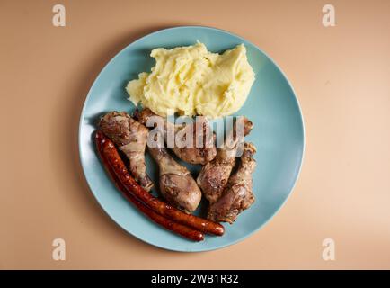
<svg viewBox="0 0 390 288"><path fill-rule="evenodd" d="M146 37L150 37L154 34L157 34L157 33L160 33L160 32L163 32L163 31L173 31L173 30L179 30L179 29L185 29L185 28L199 28L199 29L206 29L206 30L211 30L211 31L219 31L219 32L224 32L228 35L231 35L231 36L234 36L235 38L239 39L239 40L243 40L244 42L247 42L249 44L251 44L253 46L253 48L257 49L259 52L261 52L266 58L268 58L270 60L270 62L275 66L277 67L277 69L279 70L280 74L284 77L284 79L286 80L286 82L288 83L288 86L289 88L291 89L292 91L292 94L294 95L294 99L295 99L295 102L297 103L297 110L299 112L299 119L300 119L300 126L301 126L301 129L302 129L302 156L300 158L300 162L299 162L299 168L298 168L298 171L297 171L297 175L295 177L295 180L294 180L294 183L292 184L291 188L289 189L288 191L288 195L287 197L284 199L283 202L281 202L279 204L279 207L278 209L276 209L272 215L270 216L269 219L265 220L258 228L256 229L253 229L253 231L251 231L250 233L242 236L241 238L237 238L235 239L234 241L230 242L230 243L226 243L226 244L222 244L218 247L200 247L200 248L197 248L197 249L180 249L180 248L177 248L175 249L174 247L164 247L163 245L158 245L156 243L152 243L150 242L148 239L146 238L141 238L139 237L138 235L135 235L133 232L129 231L128 229L125 229L122 225L120 225L120 223L115 220L111 214L106 211L104 209L104 206L102 205L102 202L100 202L99 200L99 197L96 196L96 194L93 192L93 189L91 187L91 184L89 183L88 181L88 176L86 175L86 172L85 172L85 165L84 164L84 159L83 159L83 148L82 148L82 137L81 137L81 133L82 133L82 124L84 122L84 112L85 112L85 109L86 109L86 104L88 103L90 97L91 97L91 94L92 94L92 91L93 91L93 87L96 85L96 83L98 82L98 80L101 78L104 70L110 66L110 64L114 61L115 58L119 57L119 55L125 50L125 49L128 49L130 45L133 45L135 43L137 43L138 41L141 41L141 40L144 40ZM158 247L158 248L161 248L161 249L164 249L164 250L169 250L169 251L173 251L173 252L191 252L191 253L197 253L197 252L207 252L207 251L214 251L214 250L218 250L218 249L222 249L222 248L225 248L225 247L230 247L230 246L233 246L239 242L242 242L244 241L244 239L246 238L249 238L251 237L254 233L258 232L260 229L262 229L266 224L268 224L270 222L270 220L272 220L277 214L278 212L284 207L284 205L286 204L286 202L288 201L288 199L291 197L291 194L294 192L295 188L296 188L296 185L297 185L297 180L301 174L301 171L302 171L302 166L303 166L303 163L304 163L304 159L305 159L305 152L306 152L306 128L305 128L305 121L304 121L304 115L303 115L303 112L302 112L302 108L301 108L301 104L299 103L299 99L297 97L297 93L296 93L296 90L294 89L294 86L291 84L291 82L288 80L288 77L286 76L285 72L279 67L279 65L274 61L273 58L270 58L270 56L264 52L262 49L260 49L257 45L253 44L252 41L250 40L246 40L244 39L243 37L231 32L231 31L226 31L226 30L223 30L223 29L219 29L219 28L215 28L215 27L212 27L212 26L205 26L205 25L183 25L183 26L172 26L172 27L168 27L168 28L164 28L164 29L160 29L160 30L157 30L157 31L153 31L153 32L150 32L150 33L147 33L146 35L140 37L140 38L137 38L137 40L134 40L134 41L131 41L129 44L127 44L123 49L120 49L120 51L118 51L109 61L107 61L104 66L102 67L101 71L99 72L98 76L96 76L96 78L93 80L93 84L91 85L90 89L88 90L88 93L86 94L86 97L85 97L85 100L84 100L84 103L83 103L83 109L80 113L80 118L79 118L79 125L78 125L78 134L77 134L77 142L78 142L78 154L79 154L79 161L80 161L80 164L82 166L82 169L83 169L83 175L84 175L84 179L88 185L88 189L90 190L91 193L93 193L93 198L95 199L96 202L99 203L99 206L100 208L102 209L102 211L104 211L108 216L109 218L116 224L120 227L120 229L123 229L125 230L127 233L129 233L132 237L134 238L137 238L138 240L141 240L142 242L145 242L147 243L148 245L151 245L153 247Z"/></svg>

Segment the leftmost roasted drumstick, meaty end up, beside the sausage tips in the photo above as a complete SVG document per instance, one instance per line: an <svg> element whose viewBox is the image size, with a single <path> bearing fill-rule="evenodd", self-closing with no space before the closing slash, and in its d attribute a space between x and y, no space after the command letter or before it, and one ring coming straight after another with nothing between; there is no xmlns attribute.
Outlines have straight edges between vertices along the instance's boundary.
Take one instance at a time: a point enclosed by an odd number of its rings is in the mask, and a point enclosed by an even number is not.
<svg viewBox="0 0 390 288"><path fill-rule="evenodd" d="M146 175L145 148L147 128L126 112L109 112L102 116L99 128L129 158L129 170L136 181L150 191L153 182Z"/></svg>

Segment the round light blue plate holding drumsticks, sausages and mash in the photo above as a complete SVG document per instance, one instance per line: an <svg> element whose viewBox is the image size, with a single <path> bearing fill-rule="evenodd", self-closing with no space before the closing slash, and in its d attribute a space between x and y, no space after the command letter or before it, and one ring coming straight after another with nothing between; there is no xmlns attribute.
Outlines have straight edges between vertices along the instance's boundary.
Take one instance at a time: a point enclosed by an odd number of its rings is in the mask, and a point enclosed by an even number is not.
<svg viewBox="0 0 390 288"><path fill-rule="evenodd" d="M244 43L247 56L256 74L244 107L237 112L254 123L245 138L257 147L257 167L253 174L253 193L256 202L244 211L233 225L226 224L223 237L207 236L193 243L176 236L148 220L123 198L111 183L94 149L93 131L104 112L132 112L125 85L137 74L155 65L149 57L157 47L173 48L192 45L197 40L209 50L221 52ZM304 153L304 125L297 98L288 79L261 49L234 34L208 27L175 27L151 33L121 50L102 69L85 100L79 128L81 163L86 180L104 211L131 235L151 245L175 251L207 251L226 247L247 238L260 229L282 204L297 181ZM148 173L157 184L156 165L146 156ZM197 173L199 166L191 166ZM203 207L205 203L203 203ZM201 208L199 208L201 210Z"/></svg>

